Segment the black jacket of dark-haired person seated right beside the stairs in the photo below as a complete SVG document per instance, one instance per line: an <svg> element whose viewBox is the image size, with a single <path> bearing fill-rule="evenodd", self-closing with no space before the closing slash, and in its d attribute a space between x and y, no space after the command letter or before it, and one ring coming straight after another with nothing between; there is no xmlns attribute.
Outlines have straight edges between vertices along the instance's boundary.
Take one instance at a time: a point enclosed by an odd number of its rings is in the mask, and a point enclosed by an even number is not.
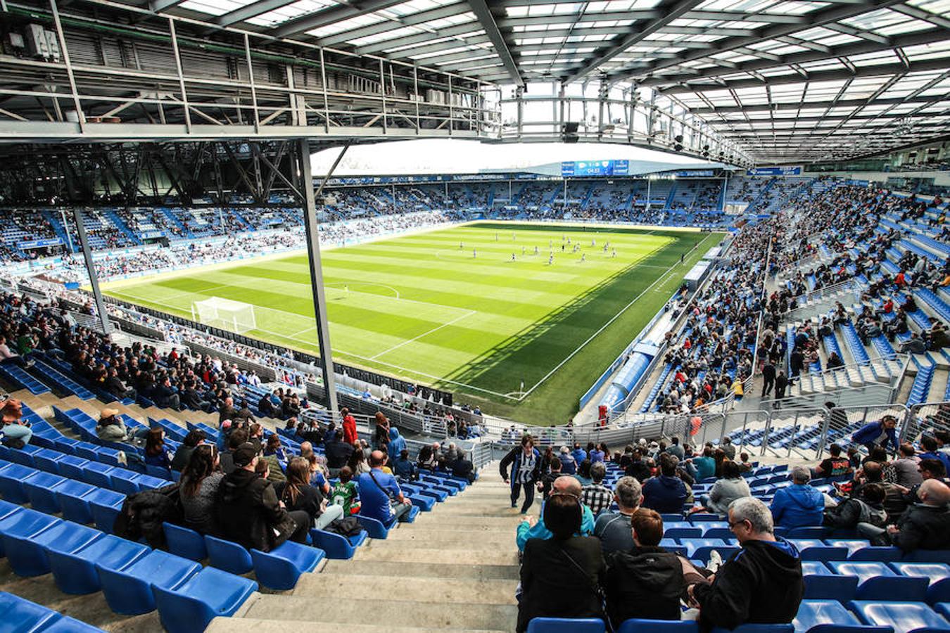
<svg viewBox="0 0 950 633"><path fill-rule="evenodd" d="M604 571L600 541L593 536L573 536L566 541L528 539L522 562L518 631L526 630L537 617L603 619L594 584L601 585Z"/></svg>

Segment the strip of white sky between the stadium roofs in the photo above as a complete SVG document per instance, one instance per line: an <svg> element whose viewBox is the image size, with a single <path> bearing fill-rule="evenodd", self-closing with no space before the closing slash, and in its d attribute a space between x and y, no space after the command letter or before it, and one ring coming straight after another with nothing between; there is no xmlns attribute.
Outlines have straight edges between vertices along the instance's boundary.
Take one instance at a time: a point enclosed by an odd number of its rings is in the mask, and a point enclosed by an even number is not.
<svg viewBox="0 0 950 633"><path fill-rule="evenodd" d="M340 148L311 157L314 177L324 176ZM477 140L397 140L353 145L334 176L387 174L474 174L483 169L523 169L563 160L656 160L682 165L696 158L611 143L483 143Z"/></svg>

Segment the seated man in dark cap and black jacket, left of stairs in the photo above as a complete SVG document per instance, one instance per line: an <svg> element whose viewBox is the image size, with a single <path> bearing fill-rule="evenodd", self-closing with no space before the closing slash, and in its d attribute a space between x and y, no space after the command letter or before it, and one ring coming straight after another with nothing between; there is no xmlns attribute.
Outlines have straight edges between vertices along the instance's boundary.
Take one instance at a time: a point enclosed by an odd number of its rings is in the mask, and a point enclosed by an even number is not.
<svg viewBox="0 0 950 633"><path fill-rule="evenodd" d="M257 475L257 449L244 442L235 449L235 470L218 486L215 513L224 538L248 549L270 551L288 539L305 543L310 515L287 512L277 500L274 485Z"/></svg>

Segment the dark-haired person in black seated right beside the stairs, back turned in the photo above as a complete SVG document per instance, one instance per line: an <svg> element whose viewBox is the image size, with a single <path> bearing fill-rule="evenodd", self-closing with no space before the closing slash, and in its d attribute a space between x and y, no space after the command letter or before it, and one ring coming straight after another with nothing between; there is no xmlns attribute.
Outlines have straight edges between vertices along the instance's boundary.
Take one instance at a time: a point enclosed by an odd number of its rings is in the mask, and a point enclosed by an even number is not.
<svg viewBox="0 0 950 633"><path fill-rule="evenodd" d="M531 539L524 549L519 632L532 618L605 617L599 594L605 571L600 543L575 535L581 530L582 508L573 493L553 493L544 502L543 523L550 526L550 538Z"/></svg>

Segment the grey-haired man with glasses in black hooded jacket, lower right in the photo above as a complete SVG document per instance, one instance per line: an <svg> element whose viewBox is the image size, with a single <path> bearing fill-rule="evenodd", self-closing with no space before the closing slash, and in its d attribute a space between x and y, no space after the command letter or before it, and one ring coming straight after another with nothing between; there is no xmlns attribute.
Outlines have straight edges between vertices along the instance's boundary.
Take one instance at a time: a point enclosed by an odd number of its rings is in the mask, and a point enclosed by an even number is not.
<svg viewBox="0 0 950 633"><path fill-rule="evenodd" d="M741 549L716 571L712 583L685 578L689 603L699 608L699 624L731 629L790 623L805 595L798 550L775 537L769 508L754 497L732 502L729 525Z"/></svg>

